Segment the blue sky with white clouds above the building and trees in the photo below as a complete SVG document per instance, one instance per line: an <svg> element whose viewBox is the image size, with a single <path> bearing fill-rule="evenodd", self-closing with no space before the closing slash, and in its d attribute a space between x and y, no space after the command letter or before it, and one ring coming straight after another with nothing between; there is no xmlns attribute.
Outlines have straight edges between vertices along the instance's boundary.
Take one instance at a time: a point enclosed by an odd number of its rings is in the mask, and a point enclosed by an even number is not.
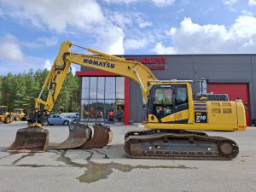
<svg viewBox="0 0 256 192"><path fill-rule="evenodd" d="M256 54L256 0L0 0L0 75L49 68L67 40L113 55Z"/></svg>

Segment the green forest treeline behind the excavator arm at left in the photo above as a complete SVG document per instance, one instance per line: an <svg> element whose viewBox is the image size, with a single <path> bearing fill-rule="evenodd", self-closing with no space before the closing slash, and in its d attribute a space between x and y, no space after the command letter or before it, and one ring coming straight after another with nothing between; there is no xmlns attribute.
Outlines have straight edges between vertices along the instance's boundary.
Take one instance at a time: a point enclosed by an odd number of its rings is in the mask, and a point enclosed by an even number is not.
<svg viewBox="0 0 256 192"><path fill-rule="evenodd" d="M14 108L32 110L34 100L38 97L48 73L46 69L36 72L31 69L28 73L8 73L6 76L0 76L0 105L7 105L9 111ZM79 78L70 73L65 79L53 111L79 111L79 94ZM43 100L46 96L47 91L44 91Z"/></svg>

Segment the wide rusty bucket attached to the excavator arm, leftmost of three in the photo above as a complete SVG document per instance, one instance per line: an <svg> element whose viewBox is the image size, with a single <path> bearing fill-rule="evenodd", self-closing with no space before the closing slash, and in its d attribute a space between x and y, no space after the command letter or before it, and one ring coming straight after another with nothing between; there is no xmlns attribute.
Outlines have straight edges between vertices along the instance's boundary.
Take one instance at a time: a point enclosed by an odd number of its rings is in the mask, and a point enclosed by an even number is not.
<svg viewBox="0 0 256 192"><path fill-rule="evenodd" d="M48 148L49 132L40 127L19 129L9 152L44 152Z"/></svg>

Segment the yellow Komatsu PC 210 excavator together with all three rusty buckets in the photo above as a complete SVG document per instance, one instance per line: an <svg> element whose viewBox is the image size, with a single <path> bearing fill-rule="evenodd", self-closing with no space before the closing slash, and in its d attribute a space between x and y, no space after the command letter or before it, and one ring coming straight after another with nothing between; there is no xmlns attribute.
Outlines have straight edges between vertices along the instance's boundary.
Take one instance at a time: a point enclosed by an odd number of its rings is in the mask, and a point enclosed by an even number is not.
<svg viewBox="0 0 256 192"><path fill-rule="evenodd" d="M86 49L90 55L74 53L71 51L72 46ZM145 128L148 130L125 134L125 153L128 157L190 160L236 158L239 148L234 141L224 137L210 137L198 130L246 130L245 109L241 100L208 101L205 97L194 101L189 81L159 80L140 62L127 61L69 41L61 44L35 100L35 111L28 121L28 128L17 132L15 142L9 147L10 151L47 150L49 134L43 128L43 122L54 107L72 63L126 76L140 85L147 108ZM48 90L46 101L41 98L44 90ZM112 131L101 124L94 127L94 134L91 136L92 131L88 125L73 123L69 127L70 135L67 140L55 148L102 148L111 141Z"/></svg>

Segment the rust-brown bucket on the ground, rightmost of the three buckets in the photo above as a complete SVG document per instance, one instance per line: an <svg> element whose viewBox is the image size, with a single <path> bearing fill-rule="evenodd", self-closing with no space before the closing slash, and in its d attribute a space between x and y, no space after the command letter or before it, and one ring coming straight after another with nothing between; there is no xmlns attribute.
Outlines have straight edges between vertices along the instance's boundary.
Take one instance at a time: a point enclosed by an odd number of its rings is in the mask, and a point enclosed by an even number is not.
<svg viewBox="0 0 256 192"><path fill-rule="evenodd" d="M93 137L79 148L103 148L112 141L113 133L109 126L100 123L93 125Z"/></svg>

